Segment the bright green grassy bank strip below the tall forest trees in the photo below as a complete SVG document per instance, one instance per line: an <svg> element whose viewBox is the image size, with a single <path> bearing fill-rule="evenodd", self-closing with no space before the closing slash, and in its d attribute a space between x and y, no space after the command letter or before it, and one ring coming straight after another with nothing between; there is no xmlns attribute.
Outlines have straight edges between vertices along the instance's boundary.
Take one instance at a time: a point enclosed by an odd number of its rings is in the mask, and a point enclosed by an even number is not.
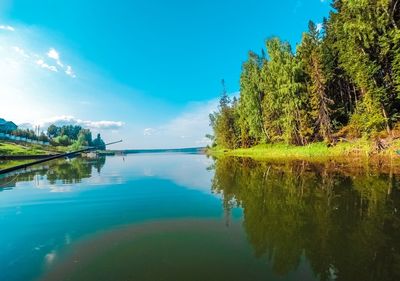
<svg viewBox="0 0 400 281"><path fill-rule="evenodd" d="M220 147L208 148L206 153L210 156L237 156L249 157L260 160L307 160L326 161L329 159L355 158L399 158L400 140L385 143L385 148L377 152L376 145L369 140L356 140L340 142L328 147L325 143L318 142L306 146L286 144L262 144L251 148L224 149Z"/></svg>

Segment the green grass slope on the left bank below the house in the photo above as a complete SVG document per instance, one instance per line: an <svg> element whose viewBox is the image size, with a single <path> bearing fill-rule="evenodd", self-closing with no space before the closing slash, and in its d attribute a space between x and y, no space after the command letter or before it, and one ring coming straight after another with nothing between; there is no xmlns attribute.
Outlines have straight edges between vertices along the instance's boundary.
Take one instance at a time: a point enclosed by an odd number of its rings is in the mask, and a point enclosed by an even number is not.
<svg viewBox="0 0 400 281"><path fill-rule="evenodd" d="M60 147L0 141L0 155L41 155L63 152Z"/></svg>

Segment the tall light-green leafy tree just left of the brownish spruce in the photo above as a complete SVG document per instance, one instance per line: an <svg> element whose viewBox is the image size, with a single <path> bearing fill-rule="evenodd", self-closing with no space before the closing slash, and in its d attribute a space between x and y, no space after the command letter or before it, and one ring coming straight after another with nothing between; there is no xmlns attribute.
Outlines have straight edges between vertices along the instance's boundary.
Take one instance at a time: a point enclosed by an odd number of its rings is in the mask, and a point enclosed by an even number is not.
<svg viewBox="0 0 400 281"><path fill-rule="evenodd" d="M270 60L263 67L263 111L268 139L304 145L307 132L302 129L307 117L302 110L306 97L300 63L289 43L273 38L266 45Z"/></svg>

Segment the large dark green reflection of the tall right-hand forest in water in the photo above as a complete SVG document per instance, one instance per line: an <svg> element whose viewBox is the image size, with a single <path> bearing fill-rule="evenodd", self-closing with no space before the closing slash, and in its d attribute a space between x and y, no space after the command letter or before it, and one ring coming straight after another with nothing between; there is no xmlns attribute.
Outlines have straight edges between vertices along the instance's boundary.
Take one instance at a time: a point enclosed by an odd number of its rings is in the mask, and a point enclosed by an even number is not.
<svg viewBox="0 0 400 281"><path fill-rule="evenodd" d="M244 210L255 255L285 275L306 257L320 280L400 280L400 177L331 163L225 158L213 190Z"/></svg>

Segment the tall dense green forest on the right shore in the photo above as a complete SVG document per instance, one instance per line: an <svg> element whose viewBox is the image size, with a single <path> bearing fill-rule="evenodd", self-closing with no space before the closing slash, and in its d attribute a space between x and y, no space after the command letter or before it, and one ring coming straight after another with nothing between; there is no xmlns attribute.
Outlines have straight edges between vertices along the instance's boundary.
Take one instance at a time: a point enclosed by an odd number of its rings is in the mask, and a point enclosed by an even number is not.
<svg viewBox="0 0 400 281"><path fill-rule="evenodd" d="M296 52L278 38L249 52L240 96L210 115L226 148L391 135L400 118L400 1L335 0ZM383 133L384 132L384 133Z"/></svg>

